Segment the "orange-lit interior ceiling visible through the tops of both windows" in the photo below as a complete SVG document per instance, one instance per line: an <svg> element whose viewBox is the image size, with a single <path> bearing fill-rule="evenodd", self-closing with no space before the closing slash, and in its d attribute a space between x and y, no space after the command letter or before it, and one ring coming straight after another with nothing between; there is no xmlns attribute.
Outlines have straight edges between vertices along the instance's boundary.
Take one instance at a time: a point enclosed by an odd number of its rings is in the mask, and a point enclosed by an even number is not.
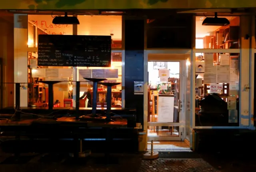
<svg viewBox="0 0 256 172"><path fill-rule="evenodd" d="M48 34L66 34L72 35L72 25L53 25L53 15L28 15L28 20L34 23L38 28ZM224 17L224 16L221 16ZM202 26L202 21L206 17L196 16L196 38L202 38L214 32L220 26ZM226 16L232 20L234 16ZM113 40L122 39L122 16L101 16L101 15L79 15L78 35L110 35Z"/></svg>

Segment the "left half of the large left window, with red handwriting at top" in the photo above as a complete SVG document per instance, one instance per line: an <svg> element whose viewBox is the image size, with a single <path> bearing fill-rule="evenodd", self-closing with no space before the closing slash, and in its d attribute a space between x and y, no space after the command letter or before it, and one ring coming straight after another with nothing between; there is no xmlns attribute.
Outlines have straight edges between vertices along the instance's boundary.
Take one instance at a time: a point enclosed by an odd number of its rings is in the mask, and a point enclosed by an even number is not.
<svg viewBox="0 0 256 172"><path fill-rule="evenodd" d="M72 25L52 24L52 15L28 15L28 46L37 47L38 35L40 34L56 34L56 35L72 35ZM37 34L37 36L35 36ZM37 107L48 106L48 85L42 84L42 80L64 80L58 84L54 84L53 98L54 107L66 107L64 101L72 99L72 84L67 82L72 80L72 67L58 66L37 66L38 52L28 52L28 106L36 105ZM35 60L35 61L34 61ZM33 63L36 62L36 63ZM65 73L66 76L56 75L55 77L47 77L40 75L40 72L48 69L56 69L58 74ZM70 104L71 105L71 104Z"/></svg>

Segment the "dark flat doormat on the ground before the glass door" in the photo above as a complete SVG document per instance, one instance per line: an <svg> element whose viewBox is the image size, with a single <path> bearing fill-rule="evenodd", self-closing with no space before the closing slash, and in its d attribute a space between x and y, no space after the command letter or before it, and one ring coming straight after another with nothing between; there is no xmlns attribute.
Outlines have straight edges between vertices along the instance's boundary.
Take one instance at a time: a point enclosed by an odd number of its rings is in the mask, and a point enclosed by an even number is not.
<svg viewBox="0 0 256 172"><path fill-rule="evenodd" d="M201 157L196 152L159 152L159 158L200 159Z"/></svg>

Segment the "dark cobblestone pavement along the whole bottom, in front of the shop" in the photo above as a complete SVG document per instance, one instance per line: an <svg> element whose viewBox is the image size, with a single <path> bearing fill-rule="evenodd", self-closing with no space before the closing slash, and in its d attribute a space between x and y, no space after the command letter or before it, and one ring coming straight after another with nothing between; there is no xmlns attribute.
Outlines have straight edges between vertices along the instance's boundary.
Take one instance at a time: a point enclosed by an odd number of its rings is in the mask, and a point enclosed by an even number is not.
<svg viewBox="0 0 256 172"><path fill-rule="evenodd" d="M11 154L0 152L0 172L252 172L256 169L253 157L199 155L190 150L158 151L157 160L143 160L138 154L118 154L114 156L118 161L108 165L100 163L102 158L96 154L79 160L67 155L23 154L16 161Z"/></svg>

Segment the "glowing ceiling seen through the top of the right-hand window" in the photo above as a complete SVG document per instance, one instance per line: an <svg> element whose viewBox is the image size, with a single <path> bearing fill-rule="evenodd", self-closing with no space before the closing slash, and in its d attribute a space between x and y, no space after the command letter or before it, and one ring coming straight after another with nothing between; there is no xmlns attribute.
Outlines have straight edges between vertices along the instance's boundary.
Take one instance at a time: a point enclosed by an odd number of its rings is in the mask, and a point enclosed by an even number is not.
<svg viewBox="0 0 256 172"><path fill-rule="evenodd" d="M204 36L210 35L211 32L218 30L221 26L202 26L202 22L206 17L196 16L196 38L202 38ZM227 18L228 20L233 20L234 16L222 16L220 18Z"/></svg>

